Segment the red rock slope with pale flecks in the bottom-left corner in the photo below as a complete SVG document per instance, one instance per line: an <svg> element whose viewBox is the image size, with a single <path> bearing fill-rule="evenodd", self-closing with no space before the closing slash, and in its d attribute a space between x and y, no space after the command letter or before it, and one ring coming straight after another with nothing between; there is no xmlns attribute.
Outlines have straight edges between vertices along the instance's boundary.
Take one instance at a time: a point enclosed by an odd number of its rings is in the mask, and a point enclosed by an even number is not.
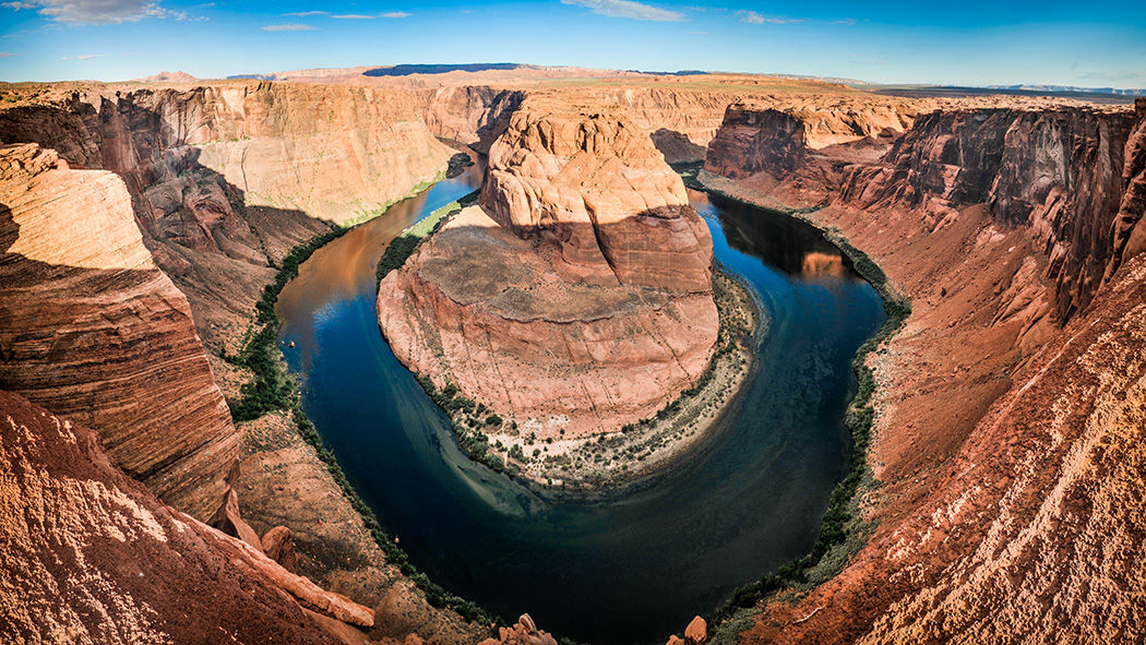
<svg viewBox="0 0 1146 645"><path fill-rule="evenodd" d="M372 612L292 576L120 473L95 433L0 392L0 640L333 643L307 606Z"/></svg>

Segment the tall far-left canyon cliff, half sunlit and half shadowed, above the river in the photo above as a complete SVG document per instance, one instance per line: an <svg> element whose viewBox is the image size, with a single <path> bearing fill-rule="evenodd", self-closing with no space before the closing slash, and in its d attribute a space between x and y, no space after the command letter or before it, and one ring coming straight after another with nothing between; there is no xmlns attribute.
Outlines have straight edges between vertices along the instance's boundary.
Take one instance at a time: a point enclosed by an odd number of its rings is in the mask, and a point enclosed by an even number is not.
<svg viewBox="0 0 1146 645"><path fill-rule="evenodd" d="M234 82L80 86L0 112L0 141L36 142L119 174L156 262L217 352L242 333L295 244L380 212L445 170L411 95Z"/></svg>

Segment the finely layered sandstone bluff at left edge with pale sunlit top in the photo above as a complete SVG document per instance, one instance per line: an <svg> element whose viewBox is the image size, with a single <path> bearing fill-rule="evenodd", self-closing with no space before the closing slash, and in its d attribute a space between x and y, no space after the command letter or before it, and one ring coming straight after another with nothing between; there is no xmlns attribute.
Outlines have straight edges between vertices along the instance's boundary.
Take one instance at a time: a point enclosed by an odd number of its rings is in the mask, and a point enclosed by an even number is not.
<svg viewBox="0 0 1146 645"><path fill-rule="evenodd" d="M238 438L124 182L8 145L0 205L0 387L95 427L132 477L206 511Z"/></svg>

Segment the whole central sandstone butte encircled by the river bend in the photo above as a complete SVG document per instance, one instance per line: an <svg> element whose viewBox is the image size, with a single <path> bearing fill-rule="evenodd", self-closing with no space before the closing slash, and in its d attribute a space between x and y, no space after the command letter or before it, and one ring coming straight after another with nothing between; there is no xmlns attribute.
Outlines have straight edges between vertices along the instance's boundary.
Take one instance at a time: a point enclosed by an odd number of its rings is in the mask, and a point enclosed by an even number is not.
<svg viewBox="0 0 1146 645"><path fill-rule="evenodd" d="M523 109L480 204L379 288L413 371L567 438L646 418L699 379L719 331L712 239L647 135Z"/></svg>

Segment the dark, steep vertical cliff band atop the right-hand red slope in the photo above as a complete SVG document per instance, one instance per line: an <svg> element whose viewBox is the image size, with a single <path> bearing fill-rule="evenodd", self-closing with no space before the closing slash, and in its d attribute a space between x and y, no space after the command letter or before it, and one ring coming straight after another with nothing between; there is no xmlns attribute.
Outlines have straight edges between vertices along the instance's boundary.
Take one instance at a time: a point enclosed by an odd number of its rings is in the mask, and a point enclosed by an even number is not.
<svg viewBox="0 0 1146 645"><path fill-rule="evenodd" d="M1092 108L932 112L881 164L856 167L841 199L916 209L932 228L986 203L1000 223L1029 226L1066 318L1086 307L1112 260L1131 125L1125 111Z"/></svg>

